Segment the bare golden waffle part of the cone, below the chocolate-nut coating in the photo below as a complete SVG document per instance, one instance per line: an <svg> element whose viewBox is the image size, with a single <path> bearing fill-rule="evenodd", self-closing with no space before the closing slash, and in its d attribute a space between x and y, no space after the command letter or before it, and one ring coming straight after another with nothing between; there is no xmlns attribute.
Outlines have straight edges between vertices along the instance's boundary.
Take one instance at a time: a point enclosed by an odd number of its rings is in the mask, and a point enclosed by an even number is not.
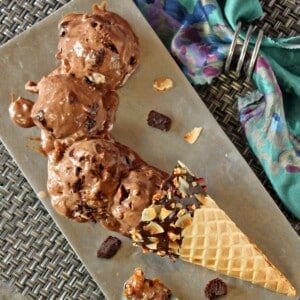
<svg viewBox="0 0 300 300"><path fill-rule="evenodd" d="M272 291L294 296L296 291L268 258L209 196L182 232L179 257L187 262Z"/></svg>

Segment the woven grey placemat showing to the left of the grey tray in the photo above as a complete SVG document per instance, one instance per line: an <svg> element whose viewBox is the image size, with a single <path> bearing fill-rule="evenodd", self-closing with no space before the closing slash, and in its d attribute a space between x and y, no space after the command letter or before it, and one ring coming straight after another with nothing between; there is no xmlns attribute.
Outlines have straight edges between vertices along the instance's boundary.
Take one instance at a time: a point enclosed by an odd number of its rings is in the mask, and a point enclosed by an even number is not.
<svg viewBox="0 0 300 300"><path fill-rule="evenodd" d="M0 1L0 44L68 0ZM0 143L0 281L28 299L104 299Z"/></svg>

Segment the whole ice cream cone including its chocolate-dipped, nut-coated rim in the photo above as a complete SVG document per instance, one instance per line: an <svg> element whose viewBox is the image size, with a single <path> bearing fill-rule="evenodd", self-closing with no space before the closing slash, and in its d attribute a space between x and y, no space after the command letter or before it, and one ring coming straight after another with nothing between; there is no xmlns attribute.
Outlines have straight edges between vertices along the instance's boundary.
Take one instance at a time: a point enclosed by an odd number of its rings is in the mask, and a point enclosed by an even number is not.
<svg viewBox="0 0 300 300"><path fill-rule="evenodd" d="M203 179L180 163L131 231L134 244L295 296L285 276L204 190Z"/></svg>

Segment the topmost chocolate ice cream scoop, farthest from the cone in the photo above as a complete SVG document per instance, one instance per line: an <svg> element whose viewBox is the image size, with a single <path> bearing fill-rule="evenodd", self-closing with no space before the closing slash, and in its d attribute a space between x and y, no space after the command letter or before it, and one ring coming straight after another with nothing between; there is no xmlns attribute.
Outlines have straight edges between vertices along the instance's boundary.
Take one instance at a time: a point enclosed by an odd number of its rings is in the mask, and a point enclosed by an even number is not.
<svg viewBox="0 0 300 300"><path fill-rule="evenodd" d="M60 21L56 57L64 72L116 89L135 71L139 43L125 19L94 5L92 15L72 13Z"/></svg>

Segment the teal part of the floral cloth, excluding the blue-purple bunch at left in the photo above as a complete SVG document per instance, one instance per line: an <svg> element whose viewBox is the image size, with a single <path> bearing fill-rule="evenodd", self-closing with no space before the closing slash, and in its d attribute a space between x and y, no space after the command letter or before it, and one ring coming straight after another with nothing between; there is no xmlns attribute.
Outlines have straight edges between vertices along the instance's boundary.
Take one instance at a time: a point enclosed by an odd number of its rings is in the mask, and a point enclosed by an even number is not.
<svg viewBox="0 0 300 300"><path fill-rule="evenodd" d="M224 13L233 28L238 21L249 21L262 13L258 1L243 1L243 5L241 1L223 2ZM239 5L243 7L240 10ZM274 189L300 219L300 37L264 38L260 53L270 64L270 68L265 64L254 75L264 97L257 101L258 95L253 93L239 99L241 117L247 120L244 126L249 144ZM273 72L275 77L270 81Z"/></svg>

